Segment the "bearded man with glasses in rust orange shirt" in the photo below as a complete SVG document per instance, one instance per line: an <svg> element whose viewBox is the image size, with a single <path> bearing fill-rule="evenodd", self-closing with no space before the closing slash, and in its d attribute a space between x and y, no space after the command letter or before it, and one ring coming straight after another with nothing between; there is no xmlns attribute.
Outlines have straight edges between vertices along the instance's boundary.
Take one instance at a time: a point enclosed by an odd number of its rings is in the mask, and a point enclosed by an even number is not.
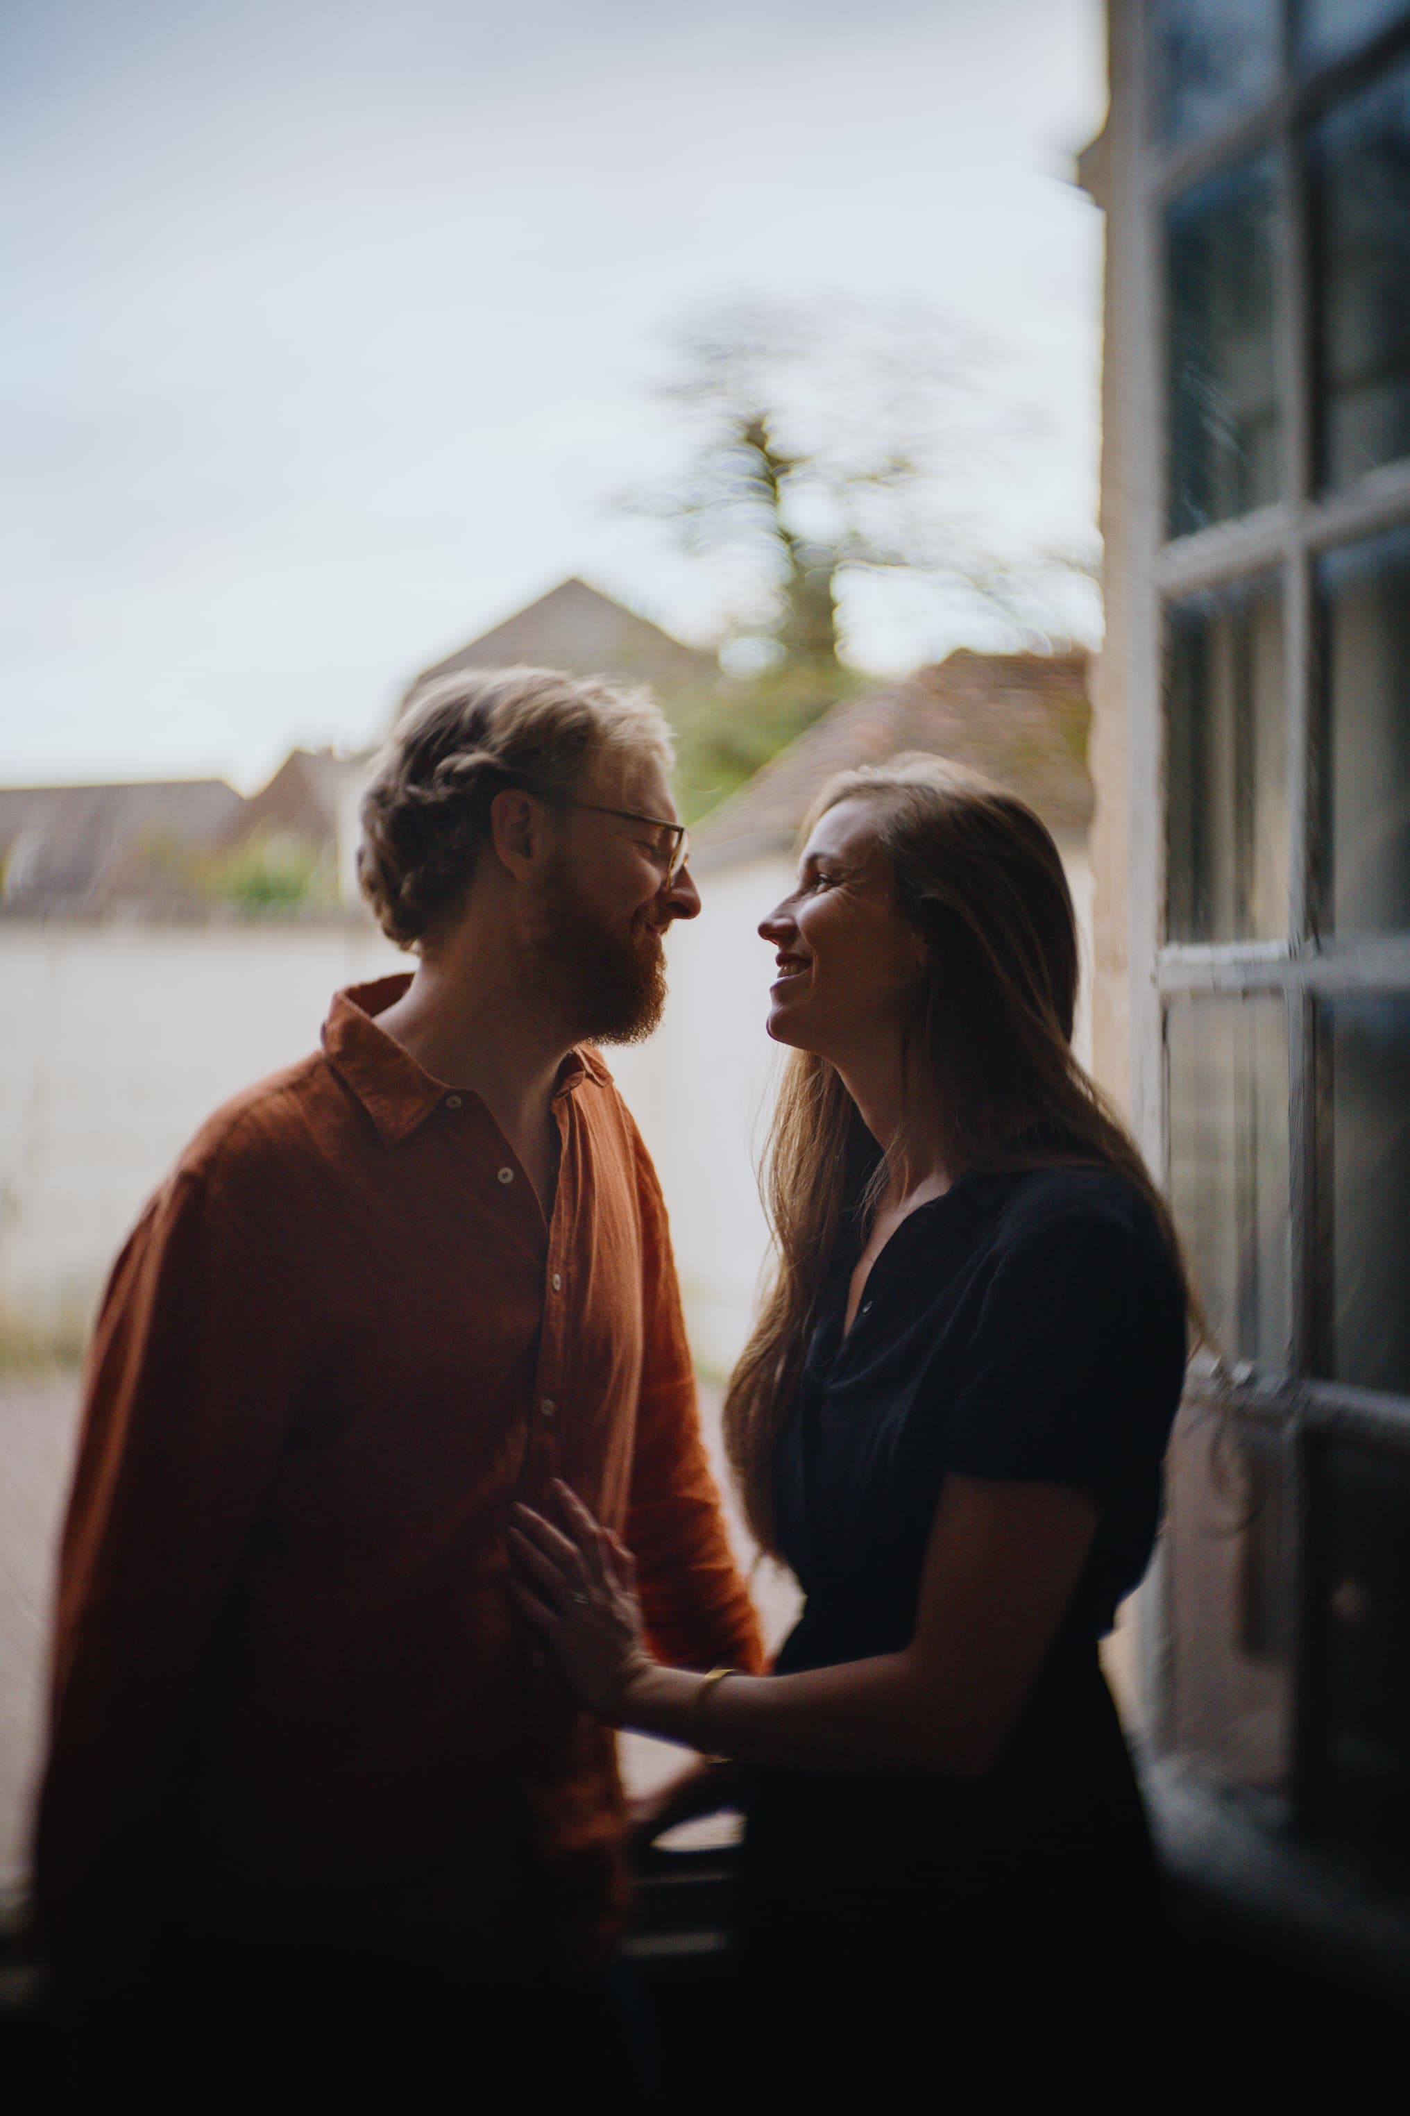
<svg viewBox="0 0 1410 2116"><path fill-rule="evenodd" d="M655 1026L700 910L666 766L600 681L412 690L359 870L414 975L340 992L116 1263L36 1860L91 2080L131 2086L154 2019L203 2110L431 2108L457 2067L465 2105L535 2105L554 2048L621 2048L611 1735L516 1619L505 1534L564 1479L662 1655L759 1665L660 1189L583 1047Z"/></svg>

